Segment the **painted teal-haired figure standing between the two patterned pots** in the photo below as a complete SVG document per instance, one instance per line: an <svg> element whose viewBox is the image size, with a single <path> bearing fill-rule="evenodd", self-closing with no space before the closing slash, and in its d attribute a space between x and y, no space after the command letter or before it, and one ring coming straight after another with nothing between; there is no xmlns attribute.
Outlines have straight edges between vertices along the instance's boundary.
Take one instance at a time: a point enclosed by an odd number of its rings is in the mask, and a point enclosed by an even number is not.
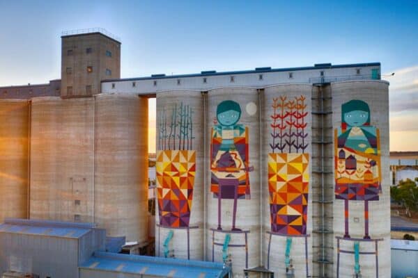
<svg viewBox="0 0 418 278"><path fill-rule="evenodd" d="M222 230L222 199L233 199L232 231L235 227L238 199L249 199L248 130L240 120L240 104L222 101L217 106L217 124L210 145L210 190L218 199L218 227Z"/></svg>

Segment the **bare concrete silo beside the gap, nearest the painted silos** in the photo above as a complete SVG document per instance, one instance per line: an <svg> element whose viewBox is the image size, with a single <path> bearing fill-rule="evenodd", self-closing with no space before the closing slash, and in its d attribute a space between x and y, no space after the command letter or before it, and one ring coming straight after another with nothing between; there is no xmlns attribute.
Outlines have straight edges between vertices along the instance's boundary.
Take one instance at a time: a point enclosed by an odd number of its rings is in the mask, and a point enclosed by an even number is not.
<svg viewBox="0 0 418 278"><path fill-rule="evenodd" d="M94 222L108 236L148 239L148 99L95 96Z"/></svg>

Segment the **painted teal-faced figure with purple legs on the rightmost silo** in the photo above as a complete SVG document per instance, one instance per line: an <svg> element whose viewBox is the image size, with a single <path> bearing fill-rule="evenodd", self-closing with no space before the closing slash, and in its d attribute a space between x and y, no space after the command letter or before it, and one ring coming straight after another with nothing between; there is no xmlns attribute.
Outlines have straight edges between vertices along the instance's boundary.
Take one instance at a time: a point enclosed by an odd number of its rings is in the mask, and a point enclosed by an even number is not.
<svg viewBox="0 0 418 278"><path fill-rule="evenodd" d="M364 239L369 236L369 201L381 192L380 136L370 125L366 102L351 100L341 107L341 127L334 132L335 197L344 200L345 238L348 232L348 201L364 201Z"/></svg>

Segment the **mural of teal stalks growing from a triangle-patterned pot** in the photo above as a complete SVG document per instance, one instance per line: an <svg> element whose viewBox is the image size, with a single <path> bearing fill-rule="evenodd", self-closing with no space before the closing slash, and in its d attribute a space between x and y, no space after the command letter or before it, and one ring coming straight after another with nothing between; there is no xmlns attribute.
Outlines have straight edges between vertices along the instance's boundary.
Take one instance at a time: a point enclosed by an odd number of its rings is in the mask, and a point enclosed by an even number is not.
<svg viewBox="0 0 418 278"><path fill-rule="evenodd" d="M180 102L169 113L164 109L159 115L157 199L164 227L189 227L196 173L193 113L189 105Z"/></svg>

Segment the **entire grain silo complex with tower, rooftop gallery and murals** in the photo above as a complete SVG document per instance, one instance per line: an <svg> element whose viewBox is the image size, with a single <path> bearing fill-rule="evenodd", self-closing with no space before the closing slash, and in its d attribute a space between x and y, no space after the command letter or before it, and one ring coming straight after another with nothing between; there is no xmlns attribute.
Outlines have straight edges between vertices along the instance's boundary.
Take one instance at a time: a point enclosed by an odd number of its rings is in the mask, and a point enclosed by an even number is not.
<svg viewBox="0 0 418 278"><path fill-rule="evenodd" d="M1 219L95 222L146 242L156 97L157 256L237 277L390 276L380 63L120 79L113 35L61 38L59 97L0 88Z"/></svg>

